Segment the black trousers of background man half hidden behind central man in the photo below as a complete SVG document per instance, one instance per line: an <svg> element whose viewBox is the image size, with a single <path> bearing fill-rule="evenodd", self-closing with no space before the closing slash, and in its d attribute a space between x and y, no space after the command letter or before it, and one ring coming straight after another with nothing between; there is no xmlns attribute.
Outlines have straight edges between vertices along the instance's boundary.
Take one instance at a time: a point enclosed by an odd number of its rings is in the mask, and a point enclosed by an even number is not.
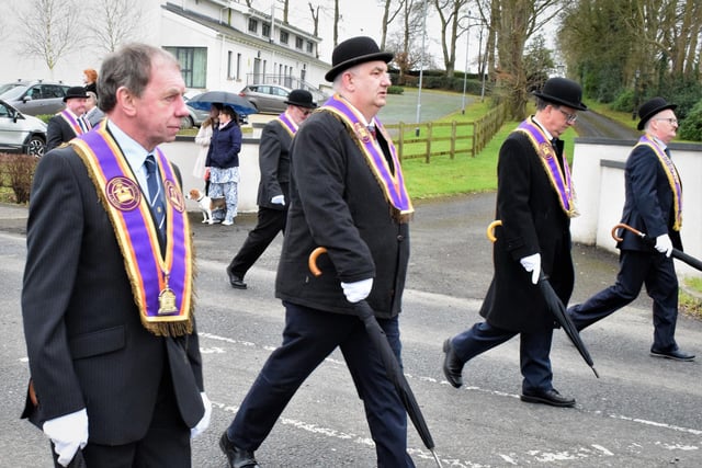
<svg viewBox="0 0 702 468"><path fill-rule="evenodd" d="M244 279L251 266L259 260L279 232L285 233L287 209L259 207L258 222L244 241L239 252L231 259L229 270Z"/></svg>

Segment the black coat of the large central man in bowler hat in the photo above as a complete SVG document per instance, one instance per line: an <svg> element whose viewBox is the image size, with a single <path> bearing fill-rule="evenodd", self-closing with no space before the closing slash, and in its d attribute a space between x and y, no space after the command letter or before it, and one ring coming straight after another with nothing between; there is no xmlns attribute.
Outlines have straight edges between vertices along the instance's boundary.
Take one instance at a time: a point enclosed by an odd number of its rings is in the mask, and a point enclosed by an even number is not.
<svg viewBox="0 0 702 468"><path fill-rule="evenodd" d="M307 259L318 246L329 254L320 256L322 275L314 277ZM330 112L316 112L291 147L291 205L276 297L354 313L339 283L374 277L367 301L377 317L390 318L400 312L408 261L408 225L392 216L350 129Z"/></svg>

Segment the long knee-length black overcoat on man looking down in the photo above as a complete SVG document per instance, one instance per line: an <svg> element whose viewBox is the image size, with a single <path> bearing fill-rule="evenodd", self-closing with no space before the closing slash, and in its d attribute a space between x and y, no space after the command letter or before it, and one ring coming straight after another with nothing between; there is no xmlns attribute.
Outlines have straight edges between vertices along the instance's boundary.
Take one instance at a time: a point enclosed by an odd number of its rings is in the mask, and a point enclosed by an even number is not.
<svg viewBox="0 0 702 468"><path fill-rule="evenodd" d="M492 248L495 276L480 315L496 327L536 332L553 327L539 287L520 259L541 254L541 265L561 300L568 304L574 285L570 218L528 137L513 133L498 160L497 210L502 221Z"/></svg>

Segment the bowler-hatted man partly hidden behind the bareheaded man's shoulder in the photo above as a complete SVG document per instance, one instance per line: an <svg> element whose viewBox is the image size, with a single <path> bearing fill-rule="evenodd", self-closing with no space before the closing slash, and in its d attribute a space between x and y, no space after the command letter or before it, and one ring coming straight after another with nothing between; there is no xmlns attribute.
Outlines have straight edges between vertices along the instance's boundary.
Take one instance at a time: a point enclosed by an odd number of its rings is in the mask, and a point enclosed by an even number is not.
<svg viewBox="0 0 702 468"><path fill-rule="evenodd" d="M83 87L68 89L64 96L66 109L49 118L46 125L46 151L90 130L90 123L83 118L87 99Z"/></svg>

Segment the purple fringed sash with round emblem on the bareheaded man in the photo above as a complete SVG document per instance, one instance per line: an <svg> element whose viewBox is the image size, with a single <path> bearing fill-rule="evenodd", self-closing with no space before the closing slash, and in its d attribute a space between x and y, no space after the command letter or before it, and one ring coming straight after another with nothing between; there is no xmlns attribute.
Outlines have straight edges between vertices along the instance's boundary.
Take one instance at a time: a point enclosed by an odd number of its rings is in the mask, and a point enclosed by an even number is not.
<svg viewBox="0 0 702 468"><path fill-rule="evenodd" d="M88 168L112 221L141 324L156 335L192 333L192 240L185 201L173 168L157 148L155 156L167 201L166 251L161 252L148 198L107 126L100 125L70 145Z"/></svg>

